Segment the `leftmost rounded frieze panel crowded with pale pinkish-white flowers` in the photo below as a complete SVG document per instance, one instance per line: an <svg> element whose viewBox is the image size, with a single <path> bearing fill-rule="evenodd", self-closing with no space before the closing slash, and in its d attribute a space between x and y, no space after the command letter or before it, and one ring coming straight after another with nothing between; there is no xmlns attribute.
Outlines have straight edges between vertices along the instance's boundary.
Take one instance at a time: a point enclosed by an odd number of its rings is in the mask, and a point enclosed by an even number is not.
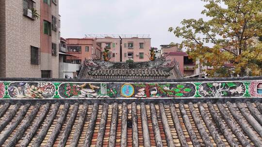
<svg viewBox="0 0 262 147"><path fill-rule="evenodd" d="M51 98L54 95L55 87L52 83L11 83L8 93L12 98Z"/></svg>

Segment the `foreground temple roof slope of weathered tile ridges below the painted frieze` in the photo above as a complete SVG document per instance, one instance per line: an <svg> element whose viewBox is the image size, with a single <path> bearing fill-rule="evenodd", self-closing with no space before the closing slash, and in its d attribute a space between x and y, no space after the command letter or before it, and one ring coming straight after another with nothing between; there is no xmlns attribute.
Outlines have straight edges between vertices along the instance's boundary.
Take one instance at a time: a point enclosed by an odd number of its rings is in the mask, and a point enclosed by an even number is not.
<svg viewBox="0 0 262 147"><path fill-rule="evenodd" d="M1 101L0 146L262 147L257 100Z"/></svg>

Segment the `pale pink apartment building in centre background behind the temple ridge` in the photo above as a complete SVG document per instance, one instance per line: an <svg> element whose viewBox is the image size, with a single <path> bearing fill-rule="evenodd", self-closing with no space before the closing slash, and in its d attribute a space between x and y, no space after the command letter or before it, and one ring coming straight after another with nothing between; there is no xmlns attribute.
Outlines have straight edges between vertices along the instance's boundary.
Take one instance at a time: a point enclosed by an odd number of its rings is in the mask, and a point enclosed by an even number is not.
<svg viewBox="0 0 262 147"><path fill-rule="evenodd" d="M112 62L125 62L131 55L134 62L148 61L151 38L149 35L86 35L86 38L96 38L97 43L109 50Z"/></svg>

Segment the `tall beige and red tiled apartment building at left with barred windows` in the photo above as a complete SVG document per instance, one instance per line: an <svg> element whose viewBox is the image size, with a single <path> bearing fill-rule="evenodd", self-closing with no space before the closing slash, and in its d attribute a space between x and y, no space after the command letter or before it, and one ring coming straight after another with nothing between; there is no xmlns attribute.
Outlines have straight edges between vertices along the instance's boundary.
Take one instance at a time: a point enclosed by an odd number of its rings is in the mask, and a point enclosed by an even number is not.
<svg viewBox="0 0 262 147"><path fill-rule="evenodd" d="M0 0L0 77L58 77L58 0Z"/></svg>

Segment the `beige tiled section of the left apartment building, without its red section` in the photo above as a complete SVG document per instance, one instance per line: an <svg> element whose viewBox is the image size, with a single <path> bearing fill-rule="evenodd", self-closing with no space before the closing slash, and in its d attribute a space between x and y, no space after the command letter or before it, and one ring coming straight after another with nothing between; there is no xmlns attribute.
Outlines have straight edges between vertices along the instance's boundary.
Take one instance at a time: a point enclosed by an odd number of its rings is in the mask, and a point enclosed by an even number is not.
<svg viewBox="0 0 262 147"><path fill-rule="evenodd" d="M39 13L40 1L0 0L0 77L41 77L38 60L31 59L32 49L40 54L40 19L32 8Z"/></svg>

